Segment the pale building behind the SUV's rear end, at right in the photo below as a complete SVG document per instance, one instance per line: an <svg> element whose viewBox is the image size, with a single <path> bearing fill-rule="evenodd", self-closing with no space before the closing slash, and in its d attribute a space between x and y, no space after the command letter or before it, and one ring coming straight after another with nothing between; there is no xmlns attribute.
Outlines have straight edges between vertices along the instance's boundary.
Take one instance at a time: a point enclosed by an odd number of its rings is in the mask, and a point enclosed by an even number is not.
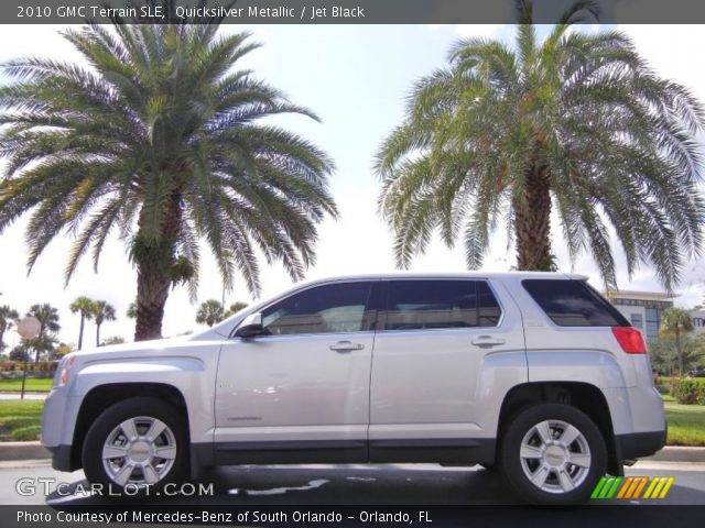
<svg viewBox="0 0 705 528"><path fill-rule="evenodd" d="M662 292L629 292L626 289L615 290L607 294L607 298L627 318L634 328L641 330L648 341L659 337L661 326L661 314L666 308L673 307L673 299L677 297ZM699 316L696 316L699 314ZM701 317L701 326L695 322L695 318ZM699 332L705 333L705 311L693 312L693 324Z"/></svg>

